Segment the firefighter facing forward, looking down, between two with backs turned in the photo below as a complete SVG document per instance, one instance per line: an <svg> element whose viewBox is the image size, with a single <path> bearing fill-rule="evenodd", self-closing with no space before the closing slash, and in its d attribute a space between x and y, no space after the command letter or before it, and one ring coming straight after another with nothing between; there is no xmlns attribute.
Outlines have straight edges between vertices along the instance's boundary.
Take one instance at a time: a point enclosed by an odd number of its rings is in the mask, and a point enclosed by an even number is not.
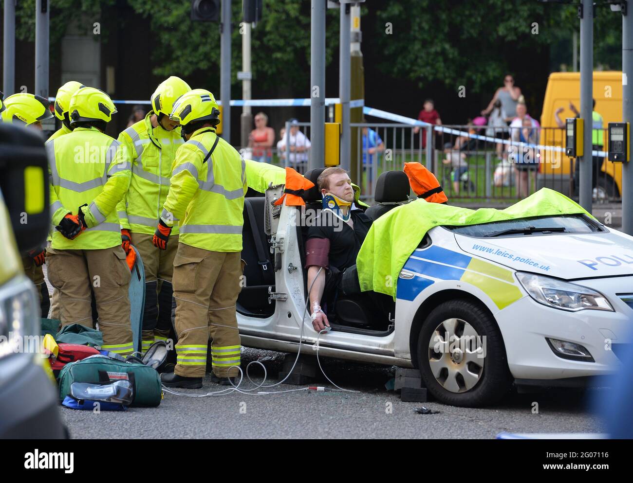
<svg viewBox="0 0 633 483"><path fill-rule="evenodd" d="M177 121L172 121L173 101L191 87L171 76L160 83L151 97L152 111L123 131L118 141L132 157L132 180L125 197L116 207L121 223L123 250L136 247L145 270L145 309L142 352L154 341L166 339L172 328L173 257L178 247L178 227L173 229L167 250L152 244L156 223L169 192L176 150L184 143Z"/></svg>

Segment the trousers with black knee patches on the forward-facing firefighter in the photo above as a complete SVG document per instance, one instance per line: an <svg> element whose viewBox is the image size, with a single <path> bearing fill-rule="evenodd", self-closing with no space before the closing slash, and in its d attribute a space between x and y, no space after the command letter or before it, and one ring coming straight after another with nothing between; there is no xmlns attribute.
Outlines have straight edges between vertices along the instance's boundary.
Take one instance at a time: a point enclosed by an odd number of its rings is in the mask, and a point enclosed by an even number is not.
<svg viewBox="0 0 633 483"><path fill-rule="evenodd" d="M178 248L178 235L169 237L166 250L154 247L153 235L130 233L145 269L145 309L141 350L155 341L166 341L172 328L172 274L173 258ZM172 346L173 347L173 346Z"/></svg>

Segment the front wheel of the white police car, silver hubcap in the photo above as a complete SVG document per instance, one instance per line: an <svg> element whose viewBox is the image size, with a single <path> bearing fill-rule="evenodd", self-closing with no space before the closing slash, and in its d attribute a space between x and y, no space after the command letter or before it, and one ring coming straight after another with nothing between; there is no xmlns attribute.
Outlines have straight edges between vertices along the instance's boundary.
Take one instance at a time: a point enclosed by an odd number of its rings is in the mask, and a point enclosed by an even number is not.
<svg viewBox="0 0 633 483"><path fill-rule="evenodd" d="M418 367L429 392L444 404L489 405L511 387L499 327L468 300L444 302L428 315L418 338Z"/></svg>

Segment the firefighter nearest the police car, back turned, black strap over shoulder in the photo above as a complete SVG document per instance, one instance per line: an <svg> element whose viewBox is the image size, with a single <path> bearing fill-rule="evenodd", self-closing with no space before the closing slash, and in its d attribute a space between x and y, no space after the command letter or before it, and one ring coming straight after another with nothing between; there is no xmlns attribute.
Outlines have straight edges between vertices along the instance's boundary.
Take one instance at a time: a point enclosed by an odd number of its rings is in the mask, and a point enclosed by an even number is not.
<svg viewBox="0 0 633 483"><path fill-rule="evenodd" d="M235 303L246 165L239 152L216 135L219 114L213 94L204 89L182 95L170 114L187 141L176 153L153 242L165 250L179 220L173 261L177 364L174 372L161 374L165 386L176 388L202 387L210 338L212 381L231 384L240 364Z"/></svg>

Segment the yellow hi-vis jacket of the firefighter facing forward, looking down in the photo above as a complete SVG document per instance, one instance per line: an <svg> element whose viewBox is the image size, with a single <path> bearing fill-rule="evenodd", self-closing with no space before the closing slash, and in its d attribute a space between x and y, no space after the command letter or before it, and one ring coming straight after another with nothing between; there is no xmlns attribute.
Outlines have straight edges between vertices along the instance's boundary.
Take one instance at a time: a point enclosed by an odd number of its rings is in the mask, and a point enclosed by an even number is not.
<svg viewBox="0 0 633 483"><path fill-rule="evenodd" d="M184 143L180 127L166 131L160 125L152 127L151 116L128 127L118 142L132 158L132 179L123 200L116 206L121 228L135 233L153 235L169 192L172 165L176 151ZM172 235L178 235L175 226Z"/></svg>

